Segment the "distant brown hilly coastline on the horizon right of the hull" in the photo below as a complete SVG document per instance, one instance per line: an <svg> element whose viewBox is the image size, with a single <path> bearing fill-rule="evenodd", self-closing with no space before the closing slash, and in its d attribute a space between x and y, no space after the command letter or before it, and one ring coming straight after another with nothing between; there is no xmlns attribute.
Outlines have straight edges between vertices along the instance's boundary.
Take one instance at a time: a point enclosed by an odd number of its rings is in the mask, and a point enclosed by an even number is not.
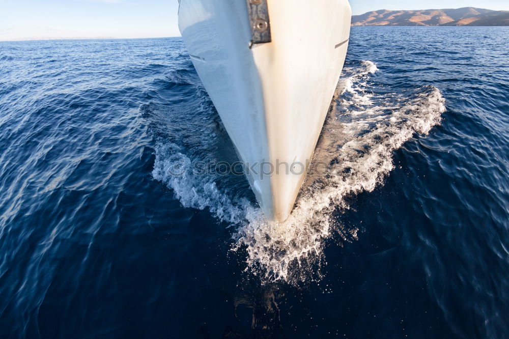
<svg viewBox="0 0 509 339"><path fill-rule="evenodd" d="M352 26L509 26L509 11L482 8L389 11L352 16Z"/></svg>

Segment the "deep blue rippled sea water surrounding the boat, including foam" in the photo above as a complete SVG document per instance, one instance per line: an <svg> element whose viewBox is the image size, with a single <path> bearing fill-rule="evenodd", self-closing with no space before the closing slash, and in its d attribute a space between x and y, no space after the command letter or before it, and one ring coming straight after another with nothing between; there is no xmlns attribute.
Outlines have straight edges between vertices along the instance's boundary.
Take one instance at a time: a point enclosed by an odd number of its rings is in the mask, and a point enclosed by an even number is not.
<svg viewBox="0 0 509 339"><path fill-rule="evenodd" d="M0 42L0 337L505 337L507 46L354 27L274 225L180 38Z"/></svg>

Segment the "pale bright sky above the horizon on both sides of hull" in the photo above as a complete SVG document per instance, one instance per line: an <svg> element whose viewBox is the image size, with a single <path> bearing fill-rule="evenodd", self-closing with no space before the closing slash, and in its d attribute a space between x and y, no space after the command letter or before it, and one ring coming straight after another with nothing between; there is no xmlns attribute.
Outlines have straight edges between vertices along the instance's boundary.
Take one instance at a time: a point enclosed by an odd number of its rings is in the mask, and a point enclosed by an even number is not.
<svg viewBox="0 0 509 339"><path fill-rule="evenodd" d="M350 4L353 14L470 6L509 10L507 0L350 0ZM175 37L180 36L177 12L177 0L0 0L0 41Z"/></svg>

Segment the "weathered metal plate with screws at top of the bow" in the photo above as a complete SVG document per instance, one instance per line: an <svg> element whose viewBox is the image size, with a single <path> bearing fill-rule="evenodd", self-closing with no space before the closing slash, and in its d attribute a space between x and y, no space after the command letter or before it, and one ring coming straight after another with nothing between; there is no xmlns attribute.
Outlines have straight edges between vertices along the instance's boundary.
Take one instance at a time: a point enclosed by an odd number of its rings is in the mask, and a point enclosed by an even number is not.
<svg viewBox="0 0 509 339"><path fill-rule="evenodd" d="M270 19L267 0L246 0L249 24L251 25L251 43L262 44L271 42Z"/></svg>

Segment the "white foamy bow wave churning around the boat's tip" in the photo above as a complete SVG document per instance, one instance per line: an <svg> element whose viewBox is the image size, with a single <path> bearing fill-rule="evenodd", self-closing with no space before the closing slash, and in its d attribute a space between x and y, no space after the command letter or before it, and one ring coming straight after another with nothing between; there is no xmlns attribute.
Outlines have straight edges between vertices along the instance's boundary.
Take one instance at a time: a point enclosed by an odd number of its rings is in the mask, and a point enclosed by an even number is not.
<svg viewBox="0 0 509 339"><path fill-rule="evenodd" d="M233 203L227 192L217 188L217 178L197 178L190 171L182 177L169 176L167 169L176 161L191 163L176 145L158 146L154 178L173 188L183 206L209 208L219 219L237 225L233 250L245 249L246 269L264 281L313 279L324 262L326 238L333 233L345 241L357 237L357 230L344 228L333 212L349 208L347 196L382 184L393 169L392 152L415 132L427 134L445 110L440 91L433 87L407 95L376 94L372 91L376 84L368 82L377 70L370 61L346 67L351 76L340 85L345 89L338 91L336 109L313 160L336 161L326 173L308 176L296 208L284 223L268 222L247 201Z"/></svg>

